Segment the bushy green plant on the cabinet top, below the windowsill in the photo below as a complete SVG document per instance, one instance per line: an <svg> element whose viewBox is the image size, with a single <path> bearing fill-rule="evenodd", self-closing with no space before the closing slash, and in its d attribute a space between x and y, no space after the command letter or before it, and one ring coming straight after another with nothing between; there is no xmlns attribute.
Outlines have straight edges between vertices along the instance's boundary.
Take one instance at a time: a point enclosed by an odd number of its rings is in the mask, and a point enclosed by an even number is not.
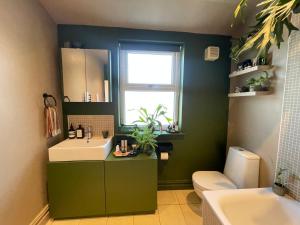
<svg viewBox="0 0 300 225"><path fill-rule="evenodd" d="M134 138L137 147L144 153L151 155L157 147L157 135L155 135L151 128L144 126L143 128L135 127L132 134L129 135Z"/></svg>

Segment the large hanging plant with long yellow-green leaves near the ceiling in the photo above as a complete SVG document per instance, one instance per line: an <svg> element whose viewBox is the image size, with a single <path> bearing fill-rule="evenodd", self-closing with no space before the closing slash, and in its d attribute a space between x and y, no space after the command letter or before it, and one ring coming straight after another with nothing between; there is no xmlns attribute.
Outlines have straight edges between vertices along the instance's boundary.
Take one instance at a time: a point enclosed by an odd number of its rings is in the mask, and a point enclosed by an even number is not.
<svg viewBox="0 0 300 225"><path fill-rule="evenodd" d="M247 7L247 0L240 0L234 11L234 19L243 17ZM250 27L250 32L241 37L238 44L231 49L231 58L238 61L246 51L255 48L258 56L268 52L272 45L280 44L283 40L283 28L288 29L289 35L293 30L298 30L291 21L291 15L300 11L300 0L263 0L257 5L261 8L256 14L256 24Z"/></svg>

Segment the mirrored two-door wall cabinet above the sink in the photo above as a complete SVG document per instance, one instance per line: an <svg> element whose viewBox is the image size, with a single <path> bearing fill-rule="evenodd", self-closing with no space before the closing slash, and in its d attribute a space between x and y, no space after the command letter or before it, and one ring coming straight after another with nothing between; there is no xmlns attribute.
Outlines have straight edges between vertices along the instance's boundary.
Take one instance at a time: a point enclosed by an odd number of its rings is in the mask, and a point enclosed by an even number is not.
<svg viewBox="0 0 300 225"><path fill-rule="evenodd" d="M64 102L111 102L111 54L62 48Z"/></svg>

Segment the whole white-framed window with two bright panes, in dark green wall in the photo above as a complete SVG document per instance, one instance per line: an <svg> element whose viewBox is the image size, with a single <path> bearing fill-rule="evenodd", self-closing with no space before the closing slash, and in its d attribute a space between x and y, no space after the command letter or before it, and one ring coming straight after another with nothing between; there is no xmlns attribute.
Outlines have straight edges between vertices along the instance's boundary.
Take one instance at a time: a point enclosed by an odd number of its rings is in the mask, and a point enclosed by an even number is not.
<svg viewBox="0 0 300 225"><path fill-rule="evenodd" d="M133 47L132 47L133 46ZM154 112L158 104L167 107L167 116L178 121L181 84L180 47L146 50L132 44L120 48L120 107L121 124L133 125L138 119L135 109ZM163 127L168 123L161 119Z"/></svg>

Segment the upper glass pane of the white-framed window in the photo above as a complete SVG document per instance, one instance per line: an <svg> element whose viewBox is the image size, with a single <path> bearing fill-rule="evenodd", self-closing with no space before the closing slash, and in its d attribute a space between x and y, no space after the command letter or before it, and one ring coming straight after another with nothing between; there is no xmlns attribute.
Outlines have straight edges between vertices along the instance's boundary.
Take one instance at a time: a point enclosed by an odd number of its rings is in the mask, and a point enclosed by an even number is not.
<svg viewBox="0 0 300 225"><path fill-rule="evenodd" d="M171 84L172 54L128 53L128 83Z"/></svg>

